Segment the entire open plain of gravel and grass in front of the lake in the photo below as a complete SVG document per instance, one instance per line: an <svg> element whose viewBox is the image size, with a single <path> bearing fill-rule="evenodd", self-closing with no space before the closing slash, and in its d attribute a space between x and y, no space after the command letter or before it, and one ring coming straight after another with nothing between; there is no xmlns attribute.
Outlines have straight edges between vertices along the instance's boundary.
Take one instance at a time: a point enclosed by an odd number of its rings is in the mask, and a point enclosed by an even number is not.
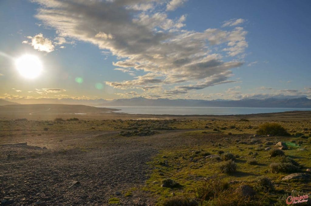
<svg viewBox="0 0 311 206"><path fill-rule="evenodd" d="M0 144L27 142L0 146L3 205L286 205L290 194L310 196L310 112L148 119L31 111L0 112ZM288 136L254 137L266 122ZM278 142L283 155L271 152ZM305 175L283 179L297 172Z"/></svg>

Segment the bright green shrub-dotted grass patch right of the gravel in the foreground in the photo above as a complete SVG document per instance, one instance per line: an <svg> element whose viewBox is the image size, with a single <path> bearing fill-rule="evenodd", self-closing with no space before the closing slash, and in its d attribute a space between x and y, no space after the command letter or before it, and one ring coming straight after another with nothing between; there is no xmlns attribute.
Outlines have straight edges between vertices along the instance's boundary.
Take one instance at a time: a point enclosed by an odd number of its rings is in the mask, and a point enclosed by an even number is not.
<svg viewBox="0 0 311 206"><path fill-rule="evenodd" d="M241 124L239 123L241 123L242 125L245 125L244 123L252 125L253 121L248 122L235 121L234 125L236 128L242 128ZM296 125L296 122L293 122L293 124ZM228 129L226 130L230 130L230 126L228 125L233 125L232 121L228 121L225 122L225 124L223 124L223 126L227 126ZM290 128L289 124L287 125L288 128ZM245 125L245 127L247 127L247 125ZM198 131L190 131L190 132L187 131L183 134L185 136L191 135L193 138L196 139L202 139L202 144L200 144L199 146L169 148L161 151L160 154L153 159L153 161L149 162L149 164L151 165L151 167L154 168L154 170L151 173L150 179L147 180L146 182L147 185L144 187L144 190L148 190L151 191L153 194L156 194L158 196L159 201L166 199L166 197L171 197L172 191L174 191L174 193L178 196L198 199L194 191L197 190L197 188L200 185L202 185L204 179L217 175L217 172L215 171L216 166L228 164L228 162L226 161L230 161L229 165L233 164L232 161L233 159L235 159L234 163L236 167L233 167L233 170L230 170L232 172L223 173L224 176L223 181L224 182L229 182L231 180L245 181L246 184L251 185L254 188L257 188L256 190L258 190L258 194L256 194L257 196L255 199L257 199L258 201L259 199L265 199L264 201L262 200L264 203L273 204L276 203L277 199L284 193L282 191L291 191L294 188L297 190L304 190L304 191L311 190L311 185L307 185L304 182L299 183L290 182L289 184L283 183L281 179L284 176L288 175L287 171L279 171L278 173L270 172L270 165L273 162L276 161L288 162L290 161L289 158L291 158L299 165L304 165L304 168L311 167L311 161L309 159L311 152L310 149L308 149L310 148L310 144L303 138L295 138L297 143L299 141L303 141L303 144L301 146L297 145L295 148L289 147L289 149L285 151L286 156L279 157L279 155L276 155L275 157L271 157L269 151L265 151L264 148L267 147L267 145L273 147L273 145L275 145L279 141L290 142L291 137L263 137L258 138L259 139L258 141L252 141L253 132L250 132L251 135L240 134L237 136L228 136L227 133L222 133L219 131L215 132L212 131L213 129L205 129L205 130L208 130L207 133L202 132L200 133ZM254 131L253 129L250 130ZM300 147L306 147L308 150L298 151L297 148ZM209 153L211 155L218 154L220 155L220 159L205 158L204 156L201 155L201 153L204 153L202 151ZM283 151L281 151L281 153L282 152ZM248 153L251 153L251 155L248 155ZM285 161L280 158L287 158L287 160ZM167 162L167 164L165 165L161 165L158 163L165 161ZM291 162L291 164L295 166L294 163ZM235 169L236 171L234 172ZM179 184L182 185L183 187L182 188L160 187L161 185L160 182L163 179L163 176L179 182ZM261 184L263 185L266 184L267 187L269 187L270 189L259 190L258 188L260 187L258 186L258 183L256 183L256 181L259 180L255 181L256 176L262 176L262 178L267 178L262 179L260 181ZM274 193L271 193L273 185L271 186L271 184L269 184L268 181L264 183L264 181L266 180L271 180L274 182L273 184L278 185L275 188L276 190L273 190ZM154 184L153 182L158 183ZM264 186L262 186L262 188L264 188ZM267 191L268 194L266 194ZM233 194L233 191L231 192ZM227 193L227 191L224 193ZM223 198L225 199L225 197ZM217 204L221 205L219 199L218 200L214 199L213 200L214 202L212 202L211 200L209 201L210 202L208 205L217 205ZM228 201L234 202L234 200ZM249 203L249 205L251 205L251 203Z"/></svg>

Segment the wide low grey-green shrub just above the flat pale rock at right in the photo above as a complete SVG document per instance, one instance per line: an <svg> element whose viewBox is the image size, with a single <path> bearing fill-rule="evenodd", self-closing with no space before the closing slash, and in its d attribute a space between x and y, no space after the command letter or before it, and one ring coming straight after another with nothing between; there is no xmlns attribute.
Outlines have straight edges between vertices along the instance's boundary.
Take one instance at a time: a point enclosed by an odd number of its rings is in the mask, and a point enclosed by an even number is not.
<svg viewBox="0 0 311 206"><path fill-rule="evenodd" d="M273 162L270 164L270 171L272 173L278 173L278 172L298 172L300 171L300 166L298 162L293 160L290 157L279 157L276 162Z"/></svg>

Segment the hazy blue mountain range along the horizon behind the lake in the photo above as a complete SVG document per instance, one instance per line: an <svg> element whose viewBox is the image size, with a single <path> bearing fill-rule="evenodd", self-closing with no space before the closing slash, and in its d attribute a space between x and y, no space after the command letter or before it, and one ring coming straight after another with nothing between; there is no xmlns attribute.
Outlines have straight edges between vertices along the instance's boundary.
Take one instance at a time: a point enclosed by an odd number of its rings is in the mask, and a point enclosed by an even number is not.
<svg viewBox="0 0 311 206"><path fill-rule="evenodd" d="M193 99L147 99L134 97L131 99L18 99L20 104L80 104L92 106L184 106L184 107L261 107L261 108L311 108L311 100L306 97L293 99L242 99L242 100L193 100ZM0 100L0 105L18 104Z"/></svg>

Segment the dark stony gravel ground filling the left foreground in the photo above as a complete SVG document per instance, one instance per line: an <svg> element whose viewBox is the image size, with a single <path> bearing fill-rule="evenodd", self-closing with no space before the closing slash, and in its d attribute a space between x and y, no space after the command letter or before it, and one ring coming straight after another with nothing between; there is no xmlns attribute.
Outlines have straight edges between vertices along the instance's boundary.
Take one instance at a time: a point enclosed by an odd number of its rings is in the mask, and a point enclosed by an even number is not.
<svg viewBox="0 0 311 206"><path fill-rule="evenodd" d="M155 196L139 190L150 174L146 163L163 148L213 138L180 135L184 131L148 137L120 137L117 131L62 134L23 138L40 147L0 146L1 205L107 205L112 197L121 205L155 205ZM125 197L131 189L132 196Z"/></svg>

